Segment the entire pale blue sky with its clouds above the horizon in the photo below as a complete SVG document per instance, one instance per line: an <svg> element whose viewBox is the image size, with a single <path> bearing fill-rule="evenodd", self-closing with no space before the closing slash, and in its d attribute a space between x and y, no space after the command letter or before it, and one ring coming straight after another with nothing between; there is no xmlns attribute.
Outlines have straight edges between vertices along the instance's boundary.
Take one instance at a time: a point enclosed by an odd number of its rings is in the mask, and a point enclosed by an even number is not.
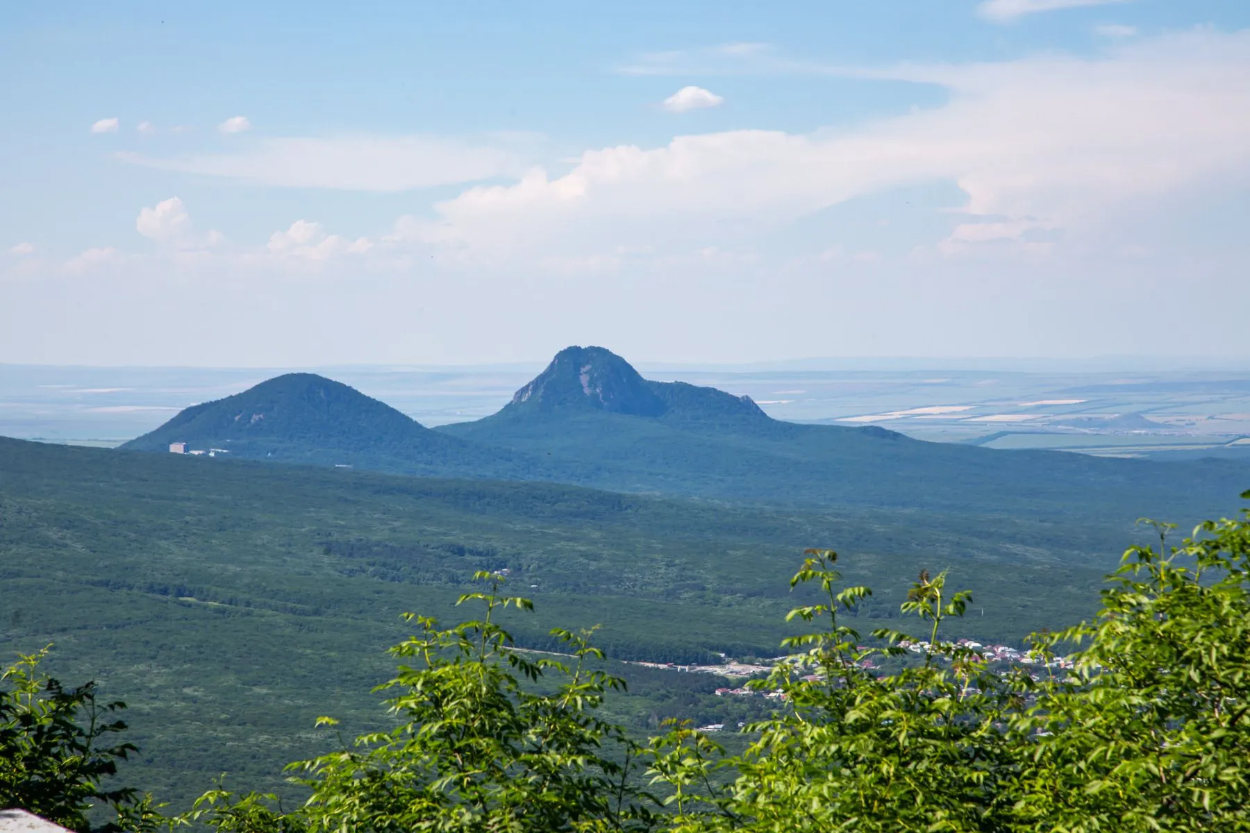
<svg viewBox="0 0 1250 833"><path fill-rule="evenodd" d="M6 4L0 76L0 361L1250 355L1246 2Z"/></svg>

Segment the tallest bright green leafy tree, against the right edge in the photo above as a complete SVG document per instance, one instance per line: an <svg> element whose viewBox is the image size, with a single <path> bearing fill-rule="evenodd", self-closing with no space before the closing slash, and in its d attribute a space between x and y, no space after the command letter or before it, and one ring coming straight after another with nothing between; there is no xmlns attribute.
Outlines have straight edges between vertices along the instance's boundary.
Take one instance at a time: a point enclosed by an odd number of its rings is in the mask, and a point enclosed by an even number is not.
<svg viewBox="0 0 1250 833"><path fill-rule="evenodd" d="M1020 829L1250 831L1250 513L1171 548L1154 526L1098 618L1045 641L1088 647L1014 727Z"/></svg>

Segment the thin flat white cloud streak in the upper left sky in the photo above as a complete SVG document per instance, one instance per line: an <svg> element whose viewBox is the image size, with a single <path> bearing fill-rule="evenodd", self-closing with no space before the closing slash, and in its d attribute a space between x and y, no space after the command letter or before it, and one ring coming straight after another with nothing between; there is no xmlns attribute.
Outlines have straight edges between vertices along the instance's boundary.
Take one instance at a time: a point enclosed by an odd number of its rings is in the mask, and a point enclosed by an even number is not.
<svg viewBox="0 0 1250 833"><path fill-rule="evenodd" d="M408 191L520 172L512 150L436 136L264 139L234 154L120 159L169 171L221 176L260 185L354 191Z"/></svg>

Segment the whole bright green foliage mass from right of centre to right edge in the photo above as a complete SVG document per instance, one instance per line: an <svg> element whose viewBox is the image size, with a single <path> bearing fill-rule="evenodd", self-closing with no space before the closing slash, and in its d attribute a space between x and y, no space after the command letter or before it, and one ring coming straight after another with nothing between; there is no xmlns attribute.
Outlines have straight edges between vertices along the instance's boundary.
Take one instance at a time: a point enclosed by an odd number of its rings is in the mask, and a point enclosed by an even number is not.
<svg viewBox="0 0 1250 833"><path fill-rule="evenodd" d="M838 614L870 591L839 588L836 553L809 551L791 586L819 582L826 602L790 616L828 624L791 639L764 683L786 707L738 757L685 727L652 741L674 828L1250 831L1250 513L1171 548L1154 526L1160 547L1125 552L1092 622L1034 637L1038 679L940 639L970 601L946 596L945 574L921 573L902 604L931 622L928 641L878 631L885 647L856 647ZM904 639L922 662L860 667Z"/></svg>

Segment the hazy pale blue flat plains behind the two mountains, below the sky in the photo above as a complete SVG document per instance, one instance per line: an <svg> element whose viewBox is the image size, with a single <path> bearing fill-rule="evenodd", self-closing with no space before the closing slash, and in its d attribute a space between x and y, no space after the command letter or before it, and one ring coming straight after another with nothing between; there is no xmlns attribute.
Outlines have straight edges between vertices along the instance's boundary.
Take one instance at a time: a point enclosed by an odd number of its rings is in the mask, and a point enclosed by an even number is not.
<svg viewBox="0 0 1250 833"><path fill-rule="evenodd" d="M629 356L625 356L629 360ZM301 371L381 400L426 427L496 412L546 361L402 367L84 367L0 365L0 435L118 445L185 407ZM1105 367L1090 361L811 360L636 362L655 381L746 395L778 420L882 425L921 440L1115 456L1250 450L1250 365ZM1234 451L1232 450L1235 446Z"/></svg>

